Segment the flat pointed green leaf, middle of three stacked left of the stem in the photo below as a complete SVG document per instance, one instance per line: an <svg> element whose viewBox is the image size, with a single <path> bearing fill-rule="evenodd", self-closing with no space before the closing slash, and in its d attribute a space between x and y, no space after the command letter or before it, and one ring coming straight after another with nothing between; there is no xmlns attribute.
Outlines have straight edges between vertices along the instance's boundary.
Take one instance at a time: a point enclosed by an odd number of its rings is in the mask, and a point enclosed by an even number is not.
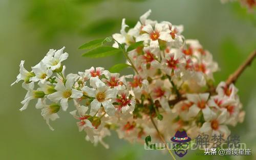
<svg viewBox="0 0 256 160"><path fill-rule="evenodd" d="M120 49L116 49L110 46L101 46L96 49L90 50L86 53L83 53L83 57L90 57L90 58L101 58L101 57L108 57L113 56L115 54L121 53Z"/></svg>

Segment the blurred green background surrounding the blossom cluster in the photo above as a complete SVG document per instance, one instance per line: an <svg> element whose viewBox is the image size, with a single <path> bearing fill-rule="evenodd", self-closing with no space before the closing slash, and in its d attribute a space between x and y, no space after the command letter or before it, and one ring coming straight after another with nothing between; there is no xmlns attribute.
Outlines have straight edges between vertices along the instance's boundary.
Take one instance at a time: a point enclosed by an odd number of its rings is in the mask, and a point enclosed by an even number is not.
<svg viewBox="0 0 256 160"><path fill-rule="evenodd" d="M198 39L218 61L221 71L216 83L225 80L256 47L256 15L239 3L221 4L218 0L1 0L0 1L0 159L169 159L160 151L146 151L142 145L106 138L110 149L94 147L78 132L69 112L60 113L51 131L40 110L30 103L26 111L18 109L24 99L21 83L10 87L18 74L20 60L34 66L49 49L63 45L69 53L67 73L84 71L91 66L109 68L124 61L119 55L101 59L81 57L80 44L119 32L121 19L134 25L139 16L152 9L151 19L184 25L183 35ZM252 149L252 156L199 156L189 151L185 159L256 159L256 61L237 81L246 110L245 121L230 127L241 142ZM130 72L129 70L124 71ZM69 111L72 107L69 108Z"/></svg>

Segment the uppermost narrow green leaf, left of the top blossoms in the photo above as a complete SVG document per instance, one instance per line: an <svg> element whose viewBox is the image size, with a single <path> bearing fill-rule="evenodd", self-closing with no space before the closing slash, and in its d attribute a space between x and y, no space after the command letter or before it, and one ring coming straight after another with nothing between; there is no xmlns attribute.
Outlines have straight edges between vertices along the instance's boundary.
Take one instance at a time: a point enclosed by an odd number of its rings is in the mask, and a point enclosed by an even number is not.
<svg viewBox="0 0 256 160"><path fill-rule="evenodd" d="M104 45L104 43L106 43L106 42L111 42L112 40L113 40L112 37L95 39L95 40L92 40L92 41L82 44L78 49L87 49L87 50L94 49L101 45Z"/></svg>

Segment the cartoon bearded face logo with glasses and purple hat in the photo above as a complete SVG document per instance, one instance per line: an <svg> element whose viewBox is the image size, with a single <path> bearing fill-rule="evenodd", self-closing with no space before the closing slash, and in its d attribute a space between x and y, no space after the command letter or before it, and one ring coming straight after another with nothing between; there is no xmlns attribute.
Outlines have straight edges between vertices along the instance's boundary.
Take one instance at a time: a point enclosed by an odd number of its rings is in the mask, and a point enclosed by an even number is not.
<svg viewBox="0 0 256 160"><path fill-rule="evenodd" d="M177 131L173 138L170 139L174 142L174 152L179 157L187 154L188 142L191 139L187 136L186 131Z"/></svg>

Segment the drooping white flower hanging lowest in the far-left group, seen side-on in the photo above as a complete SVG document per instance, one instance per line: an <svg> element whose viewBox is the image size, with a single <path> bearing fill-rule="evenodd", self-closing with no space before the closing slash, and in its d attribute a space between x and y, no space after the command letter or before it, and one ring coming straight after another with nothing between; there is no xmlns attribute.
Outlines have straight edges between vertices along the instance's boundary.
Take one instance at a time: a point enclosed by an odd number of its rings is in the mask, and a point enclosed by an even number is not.
<svg viewBox="0 0 256 160"><path fill-rule="evenodd" d="M49 120L55 121L56 119L59 118L57 112L59 111L60 105L58 104L47 105L45 103L45 100L40 101L40 104L43 107L41 111L41 116L44 117L49 128L51 130L54 130L53 127L50 125Z"/></svg>

